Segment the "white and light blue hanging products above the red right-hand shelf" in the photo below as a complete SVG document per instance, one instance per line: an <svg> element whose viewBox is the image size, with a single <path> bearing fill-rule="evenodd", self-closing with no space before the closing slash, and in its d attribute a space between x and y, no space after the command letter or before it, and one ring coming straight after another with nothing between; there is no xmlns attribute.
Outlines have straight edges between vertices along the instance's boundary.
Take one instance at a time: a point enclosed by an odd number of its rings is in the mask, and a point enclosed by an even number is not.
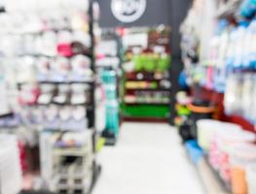
<svg viewBox="0 0 256 194"><path fill-rule="evenodd" d="M237 2L237 9L241 2ZM250 3L248 5L253 5L252 2ZM216 11L217 6L213 4L211 9ZM247 9L249 9L248 7ZM230 9L230 7L227 8ZM191 12L198 12L198 10L195 7ZM211 32L210 36L207 35L206 41L209 46L205 47L201 37L206 37L208 30L201 31L203 22L201 24L195 23L196 19L193 21L192 18L196 13L192 13L188 15L181 28L182 56L187 82L189 84L200 83L203 87L223 93L229 88L226 86L226 82L232 72L237 71L238 74L243 74L246 71L255 70L255 18L238 19L236 17L237 25L229 17L211 18L208 22L216 24L211 24L214 31ZM199 16L196 15L195 17ZM202 18L202 20L204 19ZM203 51L204 54L199 52L199 48L205 50Z"/></svg>

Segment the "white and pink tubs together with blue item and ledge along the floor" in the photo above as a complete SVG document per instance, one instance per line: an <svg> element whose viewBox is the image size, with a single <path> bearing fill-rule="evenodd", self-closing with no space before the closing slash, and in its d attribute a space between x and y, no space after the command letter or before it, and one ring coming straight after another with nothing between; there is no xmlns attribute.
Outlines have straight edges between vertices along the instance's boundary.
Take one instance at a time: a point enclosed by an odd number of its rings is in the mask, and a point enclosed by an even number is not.
<svg viewBox="0 0 256 194"><path fill-rule="evenodd" d="M213 119L201 119L197 126L198 141L186 141L185 147L207 193L254 193L256 135Z"/></svg>

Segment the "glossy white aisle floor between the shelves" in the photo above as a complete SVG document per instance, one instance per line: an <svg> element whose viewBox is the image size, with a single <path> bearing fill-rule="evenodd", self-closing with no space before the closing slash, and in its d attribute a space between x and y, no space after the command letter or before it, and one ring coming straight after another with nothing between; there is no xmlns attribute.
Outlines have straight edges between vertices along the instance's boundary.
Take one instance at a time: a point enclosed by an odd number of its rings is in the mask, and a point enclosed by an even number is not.
<svg viewBox="0 0 256 194"><path fill-rule="evenodd" d="M119 142L98 155L102 173L92 194L203 194L175 129L125 123Z"/></svg>

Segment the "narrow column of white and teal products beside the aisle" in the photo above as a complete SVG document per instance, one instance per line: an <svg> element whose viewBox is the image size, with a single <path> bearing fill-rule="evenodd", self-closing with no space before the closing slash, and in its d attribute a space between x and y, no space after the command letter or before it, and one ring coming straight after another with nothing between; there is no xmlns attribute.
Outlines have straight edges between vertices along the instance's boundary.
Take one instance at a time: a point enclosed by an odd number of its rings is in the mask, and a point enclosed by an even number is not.
<svg viewBox="0 0 256 194"><path fill-rule="evenodd" d="M96 68L105 96L105 126L102 136L106 145L114 145L119 134L119 83L121 73L121 39L115 31L103 30L98 44Z"/></svg>

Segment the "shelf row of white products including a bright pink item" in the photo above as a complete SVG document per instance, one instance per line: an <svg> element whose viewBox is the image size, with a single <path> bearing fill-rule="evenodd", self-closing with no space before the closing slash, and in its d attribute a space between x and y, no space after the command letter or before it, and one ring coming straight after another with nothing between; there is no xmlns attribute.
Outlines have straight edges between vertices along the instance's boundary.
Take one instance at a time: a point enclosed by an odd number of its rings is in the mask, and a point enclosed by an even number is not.
<svg viewBox="0 0 256 194"><path fill-rule="evenodd" d="M7 40L2 37L1 46L5 47L8 43L8 49L0 51L6 56L72 57L77 54L91 55L91 40L88 38L90 35L89 32L85 31L79 31L78 33L60 29L27 35L11 34L5 37L7 37Z"/></svg>

